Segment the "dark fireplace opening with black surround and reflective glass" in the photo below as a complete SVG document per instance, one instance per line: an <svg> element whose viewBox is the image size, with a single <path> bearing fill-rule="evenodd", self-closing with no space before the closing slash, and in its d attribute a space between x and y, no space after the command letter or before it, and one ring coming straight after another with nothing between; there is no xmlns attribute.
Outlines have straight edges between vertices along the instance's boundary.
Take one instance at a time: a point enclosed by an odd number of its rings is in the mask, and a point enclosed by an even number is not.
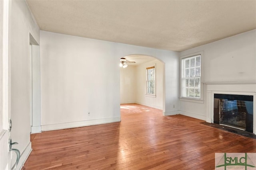
<svg viewBox="0 0 256 170"><path fill-rule="evenodd" d="M253 96L214 94L214 123L253 132Z"/></svg>

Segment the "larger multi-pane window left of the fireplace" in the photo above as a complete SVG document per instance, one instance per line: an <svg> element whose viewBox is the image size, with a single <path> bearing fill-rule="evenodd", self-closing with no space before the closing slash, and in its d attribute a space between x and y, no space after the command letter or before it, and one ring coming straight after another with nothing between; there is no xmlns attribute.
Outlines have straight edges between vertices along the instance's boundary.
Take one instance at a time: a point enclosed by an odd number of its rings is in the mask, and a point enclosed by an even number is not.
<svg viewBox="0 0 256 170"><path fill-rule="evenodd" d="M200 99L201 55L182 59L182 97Z"/></svg>

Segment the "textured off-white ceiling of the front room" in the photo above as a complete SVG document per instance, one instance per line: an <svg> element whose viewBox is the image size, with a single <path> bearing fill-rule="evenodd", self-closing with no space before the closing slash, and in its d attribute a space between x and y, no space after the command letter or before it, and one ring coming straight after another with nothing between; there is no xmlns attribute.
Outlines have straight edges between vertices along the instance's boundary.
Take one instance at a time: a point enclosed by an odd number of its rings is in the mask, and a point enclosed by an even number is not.
<svg viewBox="0 0 256 170"><path fill-rule="evenodd" d="M184 51L256 29L256 0L27 0L41 30Z"/></svg>

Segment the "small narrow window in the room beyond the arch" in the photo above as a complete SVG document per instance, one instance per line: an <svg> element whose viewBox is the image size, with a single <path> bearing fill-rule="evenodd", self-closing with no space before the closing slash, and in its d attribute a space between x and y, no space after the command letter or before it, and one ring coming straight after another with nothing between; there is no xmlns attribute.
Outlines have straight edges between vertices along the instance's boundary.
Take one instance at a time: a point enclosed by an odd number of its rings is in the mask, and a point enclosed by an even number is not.
<svg viewBox="0 0 256 170"><path fill-rule="evenodd" d="M147 94L156 95L156 70L155 66L146 68Z"/></svg>

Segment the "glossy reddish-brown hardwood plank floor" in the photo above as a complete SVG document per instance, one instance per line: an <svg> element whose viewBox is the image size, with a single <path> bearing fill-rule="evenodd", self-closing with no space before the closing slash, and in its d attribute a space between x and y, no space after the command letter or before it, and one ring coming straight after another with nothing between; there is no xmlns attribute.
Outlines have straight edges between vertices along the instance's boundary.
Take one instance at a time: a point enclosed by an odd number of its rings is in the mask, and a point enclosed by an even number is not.
<svg viewBox="0 0 256 170"><path fill-rule="evenodd" d="M121 122L31 135L26 170L213 170L215 152L256 152L256 140L184 115L121 105Z"/></svg>

